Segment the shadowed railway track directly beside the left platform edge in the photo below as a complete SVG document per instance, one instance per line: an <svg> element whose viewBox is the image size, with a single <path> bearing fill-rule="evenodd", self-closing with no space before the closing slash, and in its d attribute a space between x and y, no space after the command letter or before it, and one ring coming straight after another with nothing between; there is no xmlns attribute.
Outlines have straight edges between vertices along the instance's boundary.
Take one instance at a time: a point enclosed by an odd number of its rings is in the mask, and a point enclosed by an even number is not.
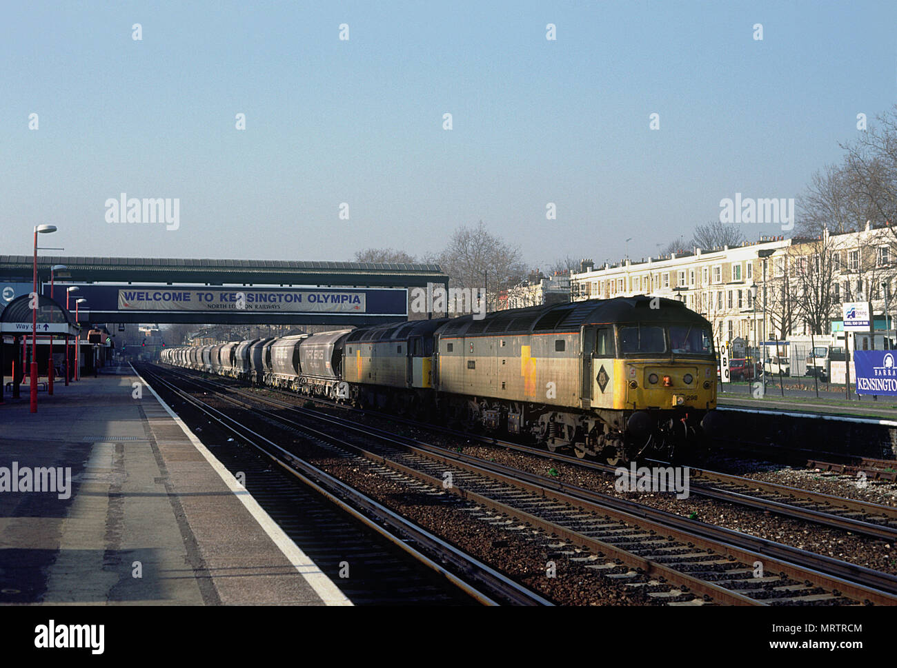
<svg viewBox="0 0 897 668"><path fill-rule="evenodd" d="M254 487L248 490L263 507L270 505L264 503L266 500L276 501L272 517L287 534L300 542L303 550L316 563L342 562L347 555L358 558L355 563L361 564L370 573L368 586L360 587L352 582L337 580L353 603L458 604L464 603L464 598L459 595L463 593L473 601L487 605L551 604L543 596L509 580L465 552L397 516L374 499L303 462L231 416L189 395L159 373L145 368L142 373L146 380L151 381L151 386L177 397L180 402L202 413L217 428L232 433L240 443L255 448L261 455L255 464L245 456L240 461L244 468L246 464L250 465L250 469L244 470L248 473L247 480L255 481ZM215 447L213 452L222 454L220 447ZM281 475L271 475L272 464L276 465L277 473ZM297 485L297 479L303 485ZM358 523L403 551L405 559L398 559L376 542L371 542L370 533L361 531ZM338 551L334 551L335 545ZM444 588L433 585L436 578L421 577L420 573L415 573L408 566L408 556L444 578L458 592L445 594ZM332 568L332 571L338 569ZM356 574L354 579L358 581L361 578Z"/></svg>

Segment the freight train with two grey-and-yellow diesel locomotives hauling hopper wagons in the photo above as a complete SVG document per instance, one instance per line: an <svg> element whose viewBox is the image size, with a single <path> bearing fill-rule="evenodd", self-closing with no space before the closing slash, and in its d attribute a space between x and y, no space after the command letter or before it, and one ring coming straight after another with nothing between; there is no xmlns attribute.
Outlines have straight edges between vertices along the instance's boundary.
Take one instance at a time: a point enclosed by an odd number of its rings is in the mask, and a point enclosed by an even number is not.
<svg viewBox="0 0 897 668"><path fill-rule="evenodd" d="M161 361L610 464L674 456L717 421L710 323L645 295L170 348Z"/></svg>

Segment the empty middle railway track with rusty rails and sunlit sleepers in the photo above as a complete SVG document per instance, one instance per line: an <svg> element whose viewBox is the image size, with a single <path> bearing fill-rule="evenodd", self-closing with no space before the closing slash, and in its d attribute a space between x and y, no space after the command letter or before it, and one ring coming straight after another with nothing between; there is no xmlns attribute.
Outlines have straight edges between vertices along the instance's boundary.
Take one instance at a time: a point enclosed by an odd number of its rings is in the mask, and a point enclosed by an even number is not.
<svg viewBox="0 0 897 668"><path fill-rule="evenodd" d="M449 491L501 516L556 535L565 546L580 546L587 554L579 558L593 561L597 569L628 567L625 573L614 571L612 576L635 578L635 586L644 586L645 580L639 577L647 576L649 584L668 583L679 591L718 603L897 603L897 578L888 574L692 522L628 499L487 463L447 448L398 438L381 429L360 427L269 397L235 398L231 387L179 376L205 387L204 391L211 389L222 399L298 430L322 447L340 448L436 486L450 474L453 482ZM274 411L259 409L259 404ZM284 412L291 417L285 417ZM353 442L321 430L323 425L348 431ZM357 445L359 440L363 445ZM758 566L766 575L758 577Z"/></svg>

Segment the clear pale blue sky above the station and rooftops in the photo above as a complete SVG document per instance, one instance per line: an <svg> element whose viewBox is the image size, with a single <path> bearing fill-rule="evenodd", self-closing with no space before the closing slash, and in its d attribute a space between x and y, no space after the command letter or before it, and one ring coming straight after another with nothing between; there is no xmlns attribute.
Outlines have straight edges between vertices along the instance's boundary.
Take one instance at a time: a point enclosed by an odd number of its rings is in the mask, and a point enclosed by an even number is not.
<svg viewBox="0 0 897 668"><path fill-rule="evenodd" d="M66 255L347 260L483 220L531 265L645 256L839 160L894 103L895 25L886 2L5 3L0 253L52 222ZM107 223L122 192L179 198L179 230Z"/></svg>

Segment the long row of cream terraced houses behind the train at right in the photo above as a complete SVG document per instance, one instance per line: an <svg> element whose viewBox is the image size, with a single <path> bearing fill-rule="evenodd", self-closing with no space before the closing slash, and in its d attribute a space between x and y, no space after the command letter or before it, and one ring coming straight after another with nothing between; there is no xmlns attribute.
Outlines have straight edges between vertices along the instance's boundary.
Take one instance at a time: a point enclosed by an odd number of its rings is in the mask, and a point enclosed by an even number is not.
<svg viewBox="0 0 897 668"><path fill-rule="evenodd" d="M870 299L884 321L897 279L895 232L867 224L859 231L761 238L598 268L583 260L570 276L571 299L636 294L679 299L710 320L718 343L831 334L839 328L845 301ZM888 323L893 328L893 318Z"/></svg>

